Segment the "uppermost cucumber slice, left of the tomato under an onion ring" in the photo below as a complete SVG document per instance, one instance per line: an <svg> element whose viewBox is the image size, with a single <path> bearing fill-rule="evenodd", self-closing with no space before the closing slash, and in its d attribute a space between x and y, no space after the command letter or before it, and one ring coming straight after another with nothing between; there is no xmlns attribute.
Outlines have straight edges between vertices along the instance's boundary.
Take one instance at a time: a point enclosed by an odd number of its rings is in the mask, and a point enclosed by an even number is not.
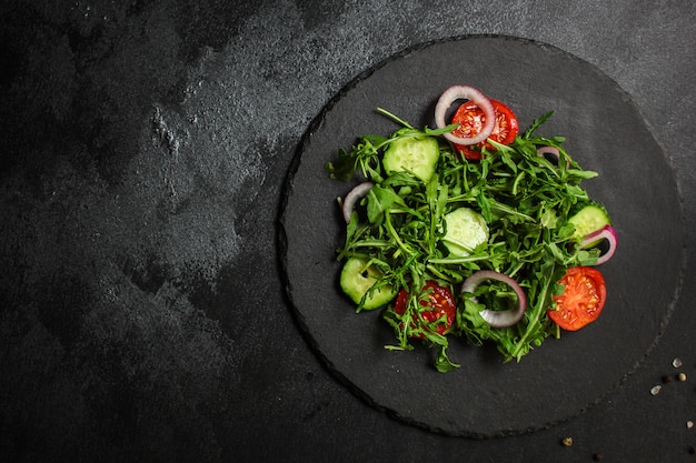
<svg viewBox="0 0 696 463"><path fill-rule="evenodd" d="M382 165L387 174L410 172L427 182L435 173L439 157L440 149L435 137L405 137L389 143Z"/></svg>

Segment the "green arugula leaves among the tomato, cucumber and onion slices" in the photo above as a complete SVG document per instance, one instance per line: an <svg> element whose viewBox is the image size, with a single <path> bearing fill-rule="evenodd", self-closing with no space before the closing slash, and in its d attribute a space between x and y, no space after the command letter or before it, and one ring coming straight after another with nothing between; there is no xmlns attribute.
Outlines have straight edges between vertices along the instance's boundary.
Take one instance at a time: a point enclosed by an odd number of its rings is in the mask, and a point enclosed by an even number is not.
<svg viewBox="0 0 696 463"><path fill-rule="evenodd" d="M450 335L474 345L493 342L506 362L519 361L549 335L558 338L558 328L546 316L553 305L551 294L560 291L557 281L567 268L593 264L598 258L597 250L579 249L573 238L575 227L568 222L575 211L591 201L580 182L597 173L583 170L570 158L563 138L535 134L553 112L534 121L509 145L489 141L493 148L483 148L480 161L467 161L439 137L455 125L420 130L388 111L378 111L401 128L388 138L362 135L350 150L340 149L335 163L326 164L331 178L350 181L361 175L375 183L362 199L364 208L352 211L338 259L357 256L376 265L382 276L374 288L389 284L417 294L426 281L435 280L457 289L453 291L456 321L447 335L409 323L412 314L422 310L415 296L402 314L387 306L384 319L394 328L397 341L387 349L410 350L414 335L420 334L437 349L437 370L446 372L459 366L447 355ZM428 182L408 172L389 174L381 165L389 144L407 137L438 139L436 174ZM544 145L558 149L557 163L537 154L537 148ZM441 241L446 232L443 217L461 207L484 217L489 240L468 255L450 255ZM515 325L493 329L479 314L486 306L509 299L505 288L493 282L481 284L478 302L458 291L467 276L481 269L504 273L524 289L528 309Z"/></svg>

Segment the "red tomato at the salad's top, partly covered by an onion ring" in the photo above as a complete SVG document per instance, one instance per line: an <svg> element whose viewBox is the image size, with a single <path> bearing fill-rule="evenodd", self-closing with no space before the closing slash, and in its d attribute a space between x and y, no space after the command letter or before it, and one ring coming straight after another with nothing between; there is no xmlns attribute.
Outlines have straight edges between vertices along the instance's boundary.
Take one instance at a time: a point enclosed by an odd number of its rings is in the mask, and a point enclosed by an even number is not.
<svg viewBox="0 0 696 463"><path fill-rule="evenodd" d="M498 143L510 144L515 140L515 137L517 137L517 133L519 133L517 117L511 109L500 101L490 99L490 102L496 111L496 124L493 129L493 133L490 133L488 138ZM453 130L453 134L466 138L475 137L481 131L485 122L486 118L484 117L484 111L477 104L467 101L457 109L451 119L451 123L459 124L457 129ZM480 150L484 145L493 148L488 142L481 142L470 147L457 144L456 148L466 159L477 161L481 159Z"/></svg>

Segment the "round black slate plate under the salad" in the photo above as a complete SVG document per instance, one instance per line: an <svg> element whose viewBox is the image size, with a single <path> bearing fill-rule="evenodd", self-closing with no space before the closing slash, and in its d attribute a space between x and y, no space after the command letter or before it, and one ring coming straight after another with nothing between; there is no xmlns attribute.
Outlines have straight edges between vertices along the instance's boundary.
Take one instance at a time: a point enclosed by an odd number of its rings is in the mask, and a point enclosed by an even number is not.
<svg viewBox="0 0 696 463"><path fill-rule="evenodd" d="M394 342L379 313L356 314L338 288L335 250L342 239L336 198L349 184L324 164L357 135L397 127L382 107L418 125L434 102L467 83L510 105L528 127L549 110L540 134L564 135L585 182L610 210L618 254L603 265L608 301L601 318L549 339L520 363L493 349L450 342L463 365L437 373L432 352L384 349ZM591 64L547 44L506 37L464 37L410 49L356 78L308 130L287 179L280 246L299 325L328 369L368 403L408 423L465 436L499 436L550 426L599 403L642 363L678 295L685 228L678 189L660 145L629 97Z"/></svg>

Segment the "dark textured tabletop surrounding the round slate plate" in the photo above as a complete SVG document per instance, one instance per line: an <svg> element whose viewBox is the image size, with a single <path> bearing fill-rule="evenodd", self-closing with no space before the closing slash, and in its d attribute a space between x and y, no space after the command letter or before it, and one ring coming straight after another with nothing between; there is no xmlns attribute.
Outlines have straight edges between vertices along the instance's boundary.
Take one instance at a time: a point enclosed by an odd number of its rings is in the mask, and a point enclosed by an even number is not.
<svg viewBox="0 0 696 463"><path fill-rule="evenodd" d="M494 440L405 425L341 385L298 330L276 242L321 108L405 48L471 33L614 79L688 230L680 298L636 373L579 417ZM4 1L0 460L696 461L695 39L692 0Z"/></svg>

